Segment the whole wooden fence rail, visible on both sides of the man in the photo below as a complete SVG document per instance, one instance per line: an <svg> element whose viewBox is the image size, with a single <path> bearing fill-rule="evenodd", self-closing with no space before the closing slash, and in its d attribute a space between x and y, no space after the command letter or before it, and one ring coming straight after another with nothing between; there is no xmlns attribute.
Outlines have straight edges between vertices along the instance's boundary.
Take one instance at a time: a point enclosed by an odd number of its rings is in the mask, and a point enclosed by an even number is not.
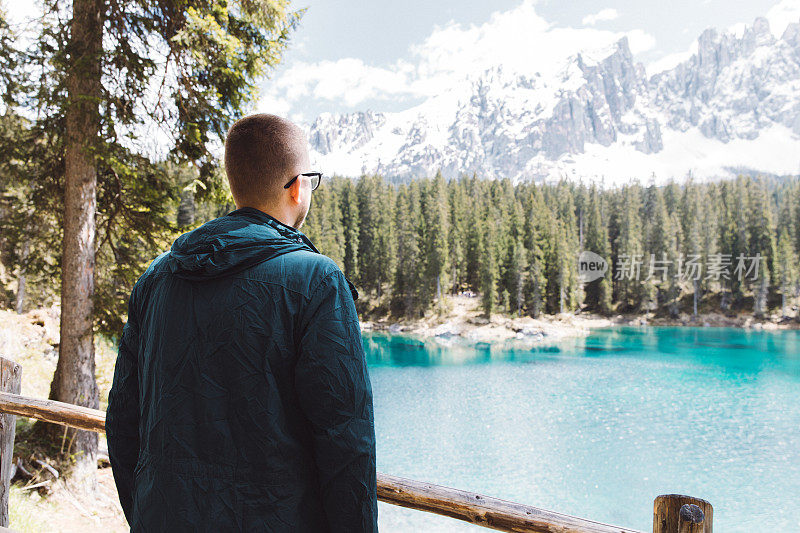
<svg viewBox="0 0 800 533"><path fill-rule="evenodd" d="M0 392L0 412L14 413L57 424L105 431L105 413L54 400ZM529 533L640 533L513 503L482 494L378 473L380 501L464 520L498 531Z"/></svg>

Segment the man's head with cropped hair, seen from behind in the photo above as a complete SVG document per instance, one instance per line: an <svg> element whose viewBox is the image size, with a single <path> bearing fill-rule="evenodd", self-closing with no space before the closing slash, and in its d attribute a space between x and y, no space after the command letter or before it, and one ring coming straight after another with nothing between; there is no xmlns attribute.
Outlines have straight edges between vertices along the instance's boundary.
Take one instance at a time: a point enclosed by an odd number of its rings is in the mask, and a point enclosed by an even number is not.
<svg viewBox="0 0 800 533"><path fill-rule="evenodd" d="M236 207L255 207L299 229L311 205L308 147L303 130L266 113L241 118L225 139L225 172Z"/></svg>

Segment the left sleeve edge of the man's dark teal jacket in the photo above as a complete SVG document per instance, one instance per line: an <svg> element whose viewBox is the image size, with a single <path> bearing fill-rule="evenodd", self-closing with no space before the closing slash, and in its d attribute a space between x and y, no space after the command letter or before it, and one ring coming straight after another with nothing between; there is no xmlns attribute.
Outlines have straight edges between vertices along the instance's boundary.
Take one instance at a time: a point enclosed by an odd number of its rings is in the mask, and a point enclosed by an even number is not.
<svg viewBox="0 0 800 533"><path fill-rule="evenodd" d="M133 474L139 460L139 323L135 292L134 286L128 300L128 321L122 329L106 410L108 458L128 524L132 523Z"/></svg>

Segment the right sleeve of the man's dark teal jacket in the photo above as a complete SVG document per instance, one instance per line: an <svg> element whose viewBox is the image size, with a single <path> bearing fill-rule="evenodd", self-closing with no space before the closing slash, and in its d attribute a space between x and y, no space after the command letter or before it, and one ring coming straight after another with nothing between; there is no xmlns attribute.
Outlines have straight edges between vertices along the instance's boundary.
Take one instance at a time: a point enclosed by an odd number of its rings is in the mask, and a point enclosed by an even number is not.
<svg viewBox="0 0 800 533"><path fill-rule="evenodd" d="M378 531L372 386L341 270L314 289L301 328L295 388L311 424L330 531Z"/></svg>

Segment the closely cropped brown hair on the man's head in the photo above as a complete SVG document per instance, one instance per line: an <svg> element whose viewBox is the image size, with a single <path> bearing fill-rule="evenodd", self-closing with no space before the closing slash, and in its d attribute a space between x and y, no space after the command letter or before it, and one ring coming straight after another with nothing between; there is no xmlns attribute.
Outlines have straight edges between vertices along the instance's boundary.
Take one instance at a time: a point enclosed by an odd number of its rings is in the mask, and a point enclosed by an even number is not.
<svg viewBox="0 0 800 533"><path fill-rule="evenodd" d="M285 118L258 113L237 120L225 138L225 173L237 203L260 205L277 198L305 143L303 130Z"/></svg>

